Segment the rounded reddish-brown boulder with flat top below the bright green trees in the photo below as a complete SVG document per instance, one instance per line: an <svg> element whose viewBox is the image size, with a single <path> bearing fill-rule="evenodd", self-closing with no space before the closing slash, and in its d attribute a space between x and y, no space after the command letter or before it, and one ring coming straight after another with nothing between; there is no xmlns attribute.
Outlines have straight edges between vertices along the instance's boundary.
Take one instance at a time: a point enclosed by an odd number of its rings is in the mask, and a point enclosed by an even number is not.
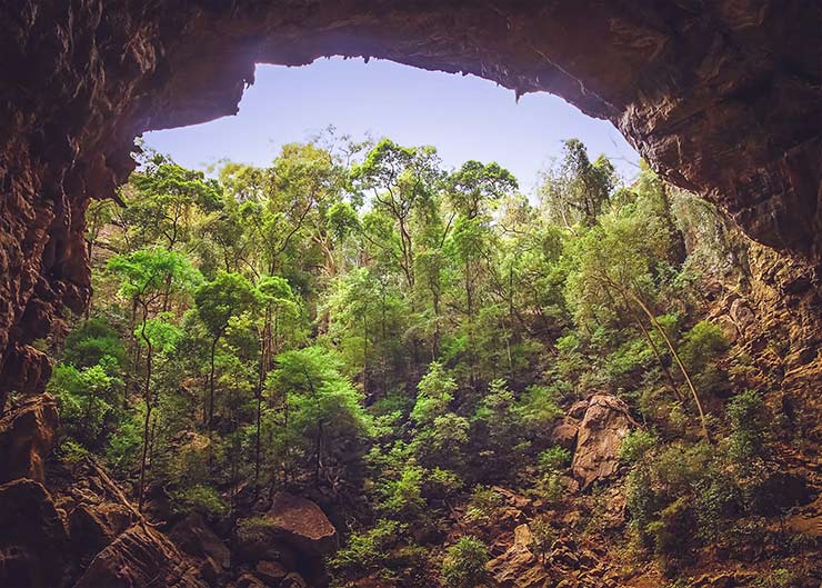
<svg viewBox="0 0 822 588"><path fill-rule="evenodd" d="M275 536L301 554L321 557L338 547L337 529L311 500L279 492L267 518Z"/></svg>

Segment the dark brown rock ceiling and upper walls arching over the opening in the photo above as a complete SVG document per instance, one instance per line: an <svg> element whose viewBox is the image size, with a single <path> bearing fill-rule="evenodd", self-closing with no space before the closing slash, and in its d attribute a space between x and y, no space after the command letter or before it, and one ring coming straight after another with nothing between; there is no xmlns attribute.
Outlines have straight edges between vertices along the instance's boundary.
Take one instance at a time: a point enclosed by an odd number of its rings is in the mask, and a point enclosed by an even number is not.
<svg viewBox="0 0 822 588"><path fill-rule="evenodd" d="M612 121L778 266L803 268L784 297L815 291L816 2L11 0L1 13L0 415L9 392L43 391L32 343L88 303L83 212L116 198L134 138L234 114L257 63L379 58L558 94Z"/></svg>

